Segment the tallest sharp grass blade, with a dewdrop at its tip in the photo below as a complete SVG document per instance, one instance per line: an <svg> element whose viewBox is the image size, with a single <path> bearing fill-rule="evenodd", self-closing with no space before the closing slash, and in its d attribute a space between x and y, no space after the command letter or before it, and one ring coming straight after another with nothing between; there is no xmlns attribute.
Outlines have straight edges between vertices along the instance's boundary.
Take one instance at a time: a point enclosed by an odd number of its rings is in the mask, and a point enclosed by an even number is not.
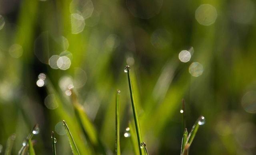
<svg viewBox="0 0 256 155"><path fill-rule="evenodd" d="M137 134L137 140L138 140L138 148L139 148L139 151L140 151L140 155L142 155L142 149L140 148L140 144L142 143L141 132L140 132L140 123L139 123L136 104L135 104L135 101L134 101L134 95L133 95L133 89L132 89L132 80L131 80L131 76L130 76L130 66L126 66L124 68L124 71L127 72L127 76L128 76L128 84L129 84L129 89L130 89L130 97L131 97L131 102L132 102L132 112L133 112L133 116L134 116L134 122L135 122L135 128L136 128L136 134Z"/></svg>

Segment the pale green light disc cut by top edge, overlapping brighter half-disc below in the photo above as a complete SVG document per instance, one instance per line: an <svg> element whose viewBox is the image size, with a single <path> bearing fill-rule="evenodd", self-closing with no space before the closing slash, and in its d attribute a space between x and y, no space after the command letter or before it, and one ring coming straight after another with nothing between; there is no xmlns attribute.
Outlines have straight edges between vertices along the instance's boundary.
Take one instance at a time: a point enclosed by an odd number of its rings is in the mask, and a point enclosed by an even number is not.
<svg viewBox="0 0 256 155"><path fill-rule="evenodd" d="M72 0L70 3L70 13L81 14L84 19L92 16L94 6L91 0Z"/></svg>

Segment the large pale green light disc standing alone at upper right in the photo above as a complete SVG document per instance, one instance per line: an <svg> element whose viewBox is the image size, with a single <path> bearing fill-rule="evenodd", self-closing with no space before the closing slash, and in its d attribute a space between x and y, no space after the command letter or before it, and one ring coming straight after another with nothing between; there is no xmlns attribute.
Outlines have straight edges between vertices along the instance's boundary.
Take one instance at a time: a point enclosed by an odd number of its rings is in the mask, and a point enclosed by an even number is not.
<svg viewBox="0 0 256 155"><path fill-rule="evenodd" d="M210 26L217 19L217 10L210 4L202 4L196 9L196 20L199 24Z"/></svg>

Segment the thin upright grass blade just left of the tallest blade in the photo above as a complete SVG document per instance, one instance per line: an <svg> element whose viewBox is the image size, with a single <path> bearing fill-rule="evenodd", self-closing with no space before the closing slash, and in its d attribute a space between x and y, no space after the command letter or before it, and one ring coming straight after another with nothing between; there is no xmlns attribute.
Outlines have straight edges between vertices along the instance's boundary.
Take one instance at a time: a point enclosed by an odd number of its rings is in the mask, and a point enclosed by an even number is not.
<svg viewBox="0 0 256 155"><path fill-rule="evenodd" d="M120 153L120 108L119 108L119 94L120 90L116 91L116 155Z"/></svg>

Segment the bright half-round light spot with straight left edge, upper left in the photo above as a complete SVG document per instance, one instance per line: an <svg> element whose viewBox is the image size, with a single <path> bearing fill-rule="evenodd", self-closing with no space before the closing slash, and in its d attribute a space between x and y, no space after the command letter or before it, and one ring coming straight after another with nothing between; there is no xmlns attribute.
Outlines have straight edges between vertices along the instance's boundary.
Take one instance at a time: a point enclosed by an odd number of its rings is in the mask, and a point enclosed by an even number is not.
<svg viewBox="0 0 256 155"><path fill-rule="evenodd" d="M71 32L78 34L84 30L84 18L80 14L71 14Z"/></svg>

